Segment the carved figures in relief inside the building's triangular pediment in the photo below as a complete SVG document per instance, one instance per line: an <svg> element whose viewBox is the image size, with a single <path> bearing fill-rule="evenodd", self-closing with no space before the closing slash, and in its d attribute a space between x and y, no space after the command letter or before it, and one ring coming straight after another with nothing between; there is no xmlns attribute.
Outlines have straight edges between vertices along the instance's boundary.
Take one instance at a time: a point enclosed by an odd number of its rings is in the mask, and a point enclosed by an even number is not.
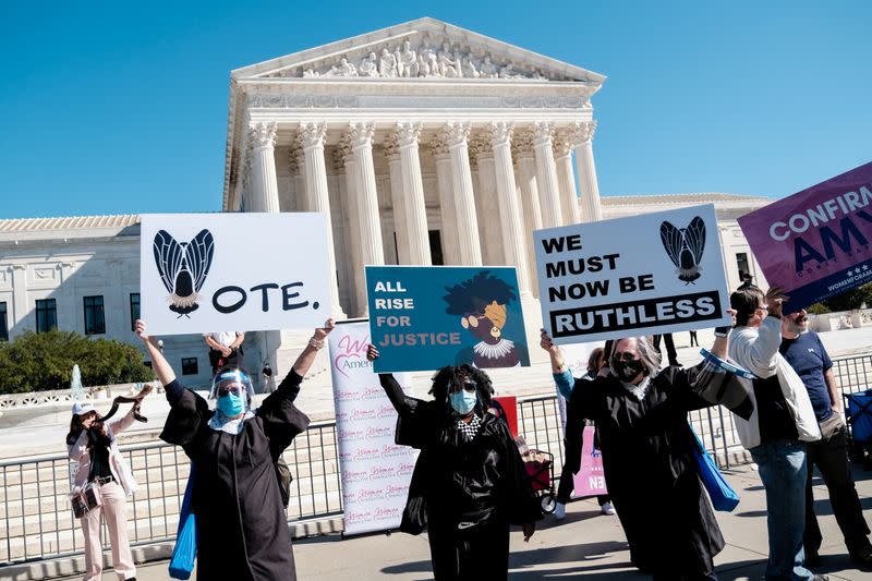
<svg viewBox="0 0 872 581"><path fill-rule="evenodd" d="M335 61L334 61L335 62ZM492 52L452 45L445 40L434 46L428 38L412 41L405 38L396 46L367 47L361 55L352 51L339 57L338 63L301 65L282 72L284 76L371 77L371 78L529 78L534 81L570 81L550 77L536 68L524 66Z"/></svg>

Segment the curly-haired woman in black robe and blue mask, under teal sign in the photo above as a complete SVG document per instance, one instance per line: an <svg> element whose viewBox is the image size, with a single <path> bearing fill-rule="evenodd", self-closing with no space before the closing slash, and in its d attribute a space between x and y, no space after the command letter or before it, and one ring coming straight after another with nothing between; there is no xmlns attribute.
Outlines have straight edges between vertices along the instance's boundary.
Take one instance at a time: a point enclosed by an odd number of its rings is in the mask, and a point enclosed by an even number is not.
<svg viewBox="0 0 872 581"><path fill-rule="evenodd" d="M372 344L367 358L378 358ZM427 529L437 581L507 579L509 525L529 541L542 509L508 425L486 413L491 378L471 365L443 367L424 401L393 375L378 377L400 415L397 444L421 450L400 530Z"/></svg>

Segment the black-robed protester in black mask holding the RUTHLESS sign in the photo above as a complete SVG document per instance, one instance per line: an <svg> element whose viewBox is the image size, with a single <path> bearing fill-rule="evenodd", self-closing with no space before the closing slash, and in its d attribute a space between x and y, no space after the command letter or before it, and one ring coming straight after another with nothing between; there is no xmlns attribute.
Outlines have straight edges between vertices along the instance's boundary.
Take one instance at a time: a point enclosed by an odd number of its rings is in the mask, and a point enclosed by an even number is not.
<svg viewBox="0 0 872 581"><path fill-rule="evenodd" d="M725 358L722 335L712 351ZM555 380L562 375L571 382L545 330L541 346ZM730 391L741 379L717 373L707 361L689 370L659 367L647 338L616 340L607 376L574 380L568 424L596 422L606 486L633 564L654 579L717 579L713 557L724 538L700 483L687 413L712 406L697 391Z"/></svg>

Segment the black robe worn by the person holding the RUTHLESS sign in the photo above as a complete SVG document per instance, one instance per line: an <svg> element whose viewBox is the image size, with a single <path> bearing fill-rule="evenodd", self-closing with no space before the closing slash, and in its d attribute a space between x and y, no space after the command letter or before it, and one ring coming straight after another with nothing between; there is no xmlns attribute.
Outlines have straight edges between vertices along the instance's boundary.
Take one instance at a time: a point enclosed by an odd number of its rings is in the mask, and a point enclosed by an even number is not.
<svg viewBox="0 0 872 581"><path fill-rule="evenodd" d="M606 486L633 564L646 572L708 573L724 548L687 421L689 410L711 406L691 389L703 367L665 368L641 401L615 376L578 379L569 399L568 433L596 422ZM580 446L567 457L578 472Z"/></svg>

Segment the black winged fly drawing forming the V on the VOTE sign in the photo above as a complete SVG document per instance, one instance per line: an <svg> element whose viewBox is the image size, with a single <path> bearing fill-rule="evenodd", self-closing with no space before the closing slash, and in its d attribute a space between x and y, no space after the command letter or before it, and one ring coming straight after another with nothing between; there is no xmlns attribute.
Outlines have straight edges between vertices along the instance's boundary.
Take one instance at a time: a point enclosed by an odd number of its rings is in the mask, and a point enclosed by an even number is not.
<svg viewBox="0 0 872 581"><path fill-rule="evenodd" d="M215 241L211 232L201 230L191 242L177 242L166 230L155 234L155 264L160 280L170 295L170 311L189 316L196 311L201 296L197 294L211 266Z"/></svg>

